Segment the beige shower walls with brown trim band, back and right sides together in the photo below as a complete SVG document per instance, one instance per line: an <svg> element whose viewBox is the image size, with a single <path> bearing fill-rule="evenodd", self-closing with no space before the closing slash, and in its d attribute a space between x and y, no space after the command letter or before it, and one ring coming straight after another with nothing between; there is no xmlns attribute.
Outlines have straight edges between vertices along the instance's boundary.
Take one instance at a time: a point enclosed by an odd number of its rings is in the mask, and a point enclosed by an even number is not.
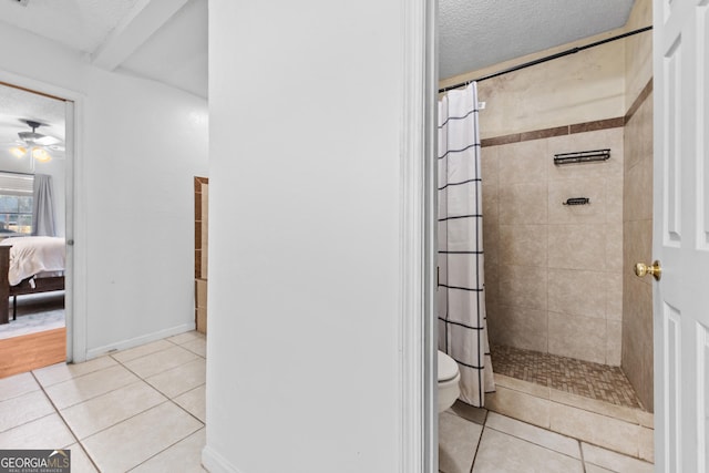
<svg viewBox="0 0 709 473"><path fill-rule="evenodd" d="M651 2L637 0L623 31L651 23ZM633 402L651 412L653 287L633 274L635 263L651 260L651 33L480 82L479 100L493 370L506 370L505 360L524 352L561 357L561 364L552 363L564 367L557 371L569 370L574 360L606 367L610 374L603 383L614 384L608 380L618 373L625 379L608 398L627 388L637 395ZM554 163L556 154L595 150L609 150L610 157ZM588 204L564 205L576 197ZM549 363L536 364L547 370L526 370L537 382L554 371ZM594 381L582 376L578 382ZM578 393L573 385L567 392Z"/></svg>

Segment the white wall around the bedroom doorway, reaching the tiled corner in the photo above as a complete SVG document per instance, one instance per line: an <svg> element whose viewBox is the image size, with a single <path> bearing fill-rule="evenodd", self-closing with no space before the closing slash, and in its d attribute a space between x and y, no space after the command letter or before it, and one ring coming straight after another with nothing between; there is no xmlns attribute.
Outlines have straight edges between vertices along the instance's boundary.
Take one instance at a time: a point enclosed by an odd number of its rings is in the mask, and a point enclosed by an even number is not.
<svg viewBox="0 0 709 473"><path fill-rule="evenodd" d="M97 70L12 27L0 27L0 43L12 45L0 49L0 80L39 81L82 102L74 253L86 284L74 296L88 323L75 357L193 327L193 176L207 173L206 101Z"/></svg>

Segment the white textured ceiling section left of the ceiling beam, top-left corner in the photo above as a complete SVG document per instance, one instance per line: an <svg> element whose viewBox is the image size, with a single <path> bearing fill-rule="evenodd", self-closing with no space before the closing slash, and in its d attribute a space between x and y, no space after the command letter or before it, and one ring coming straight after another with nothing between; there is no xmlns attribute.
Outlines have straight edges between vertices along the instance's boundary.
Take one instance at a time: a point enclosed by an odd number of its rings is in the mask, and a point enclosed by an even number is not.
<svg viewBox="0 0 709 473"><path fill-rule="evenodd" d="M138 0L0 0L0 19L71 49L93 52Z"/></svg>

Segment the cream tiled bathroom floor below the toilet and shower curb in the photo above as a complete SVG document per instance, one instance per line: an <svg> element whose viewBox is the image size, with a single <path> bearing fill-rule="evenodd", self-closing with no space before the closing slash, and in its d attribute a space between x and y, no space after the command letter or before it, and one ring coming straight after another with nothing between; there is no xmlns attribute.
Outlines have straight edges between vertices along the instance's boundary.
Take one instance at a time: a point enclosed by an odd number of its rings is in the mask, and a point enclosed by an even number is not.
<svg viewBox="0 0 709 473"><path fill-rule="evenodd" d="M439 415L439 470L441 473L651 473L654 466L459 402Z"/></svg>

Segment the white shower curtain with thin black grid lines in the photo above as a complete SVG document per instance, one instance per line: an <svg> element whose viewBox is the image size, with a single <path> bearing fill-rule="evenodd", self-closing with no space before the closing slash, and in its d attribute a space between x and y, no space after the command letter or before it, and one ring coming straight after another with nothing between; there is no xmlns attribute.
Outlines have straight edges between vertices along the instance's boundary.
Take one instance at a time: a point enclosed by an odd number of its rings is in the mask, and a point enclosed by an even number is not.
<svg viewBox="0 0 709 473"><path fill-rule="evenodd" d="M460 399L484 405L494 391L485 320L477 88L439 102L439 350L461 372Z"/></svg>

